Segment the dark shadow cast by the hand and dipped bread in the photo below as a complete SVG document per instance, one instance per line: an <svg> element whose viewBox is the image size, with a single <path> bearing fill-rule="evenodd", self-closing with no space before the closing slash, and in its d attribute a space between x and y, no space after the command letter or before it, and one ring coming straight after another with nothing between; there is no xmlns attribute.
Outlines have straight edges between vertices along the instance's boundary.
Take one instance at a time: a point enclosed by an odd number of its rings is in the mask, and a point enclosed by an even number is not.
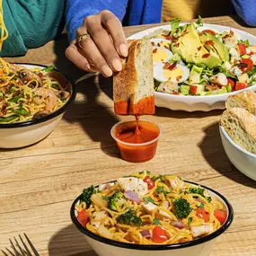
<svg viewBox="0 0 256 256"><path fill-rule="evenodd" d="M66 58L65 49L67 46L66 35L62 35L56 41L54 47L57 55L55 66L73 81L76 81L76 91L79 93L79 97L84 97L84 101L75 101L66 111L64 119L69 123L79 122L81 127L84 128L84 132L94 142L101 142L101 148L105 154L118 157L119 153L110 136L110 129L119 119L108 109L104 102L98 100L99 87L104 88L104 92L111 92L111 79L103 79L99 75L90 76L90 74L79 70Z"/></svg>

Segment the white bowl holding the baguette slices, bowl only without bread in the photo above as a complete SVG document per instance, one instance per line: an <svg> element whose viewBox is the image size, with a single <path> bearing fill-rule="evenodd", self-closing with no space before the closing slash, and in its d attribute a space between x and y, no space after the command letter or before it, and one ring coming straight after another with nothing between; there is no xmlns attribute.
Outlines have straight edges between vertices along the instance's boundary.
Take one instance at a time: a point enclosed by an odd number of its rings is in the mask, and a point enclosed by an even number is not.
<svg viewBox="0 0 256 256"><path fill-rule="evenodd" d="M219 131L225 154L230 162L240 172L243 172L243 174L256 181L256 154L252 154L234 143L234 140L221 125L219 126Z"/></svg>

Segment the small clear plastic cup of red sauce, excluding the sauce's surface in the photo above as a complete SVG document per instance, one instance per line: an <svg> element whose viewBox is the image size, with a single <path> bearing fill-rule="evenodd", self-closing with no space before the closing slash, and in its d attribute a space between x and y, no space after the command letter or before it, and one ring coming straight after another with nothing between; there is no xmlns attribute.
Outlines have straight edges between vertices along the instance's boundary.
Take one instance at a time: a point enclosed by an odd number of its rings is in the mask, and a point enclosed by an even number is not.
<svg viewBox="0 0 256 256"><path fill-rule="evenodd" d="M130 143L119 139L120 133L132 130L133 128L135 131L136 125L137 123L134 119L122 120L111 128L110 133L117 143L122 159L131 163L142 163L154 157L158 139L162 134L162 128L152 120L139 119L138 127L142 134L143 131L150 132L151 130L154 132L154 137L149 141L139 143Z"/></svg>

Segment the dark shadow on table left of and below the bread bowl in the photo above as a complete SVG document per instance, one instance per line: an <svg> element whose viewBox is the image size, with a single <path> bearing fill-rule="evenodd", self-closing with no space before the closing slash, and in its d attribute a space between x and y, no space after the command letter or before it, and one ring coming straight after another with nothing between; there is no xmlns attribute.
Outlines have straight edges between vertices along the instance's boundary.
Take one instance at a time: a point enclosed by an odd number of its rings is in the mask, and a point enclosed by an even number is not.
<svg viewBox="0 0 256 256"><path fill-rule="evenodd" d="M218 122L205 128L204 132L205 137L199 143L199 148L207 160L207 163L209 163L216 172L219 172L228 179L247 187L256 188L255 181L252 181L247 176L243 175L242 172L239 172L226 156L219 134Z"/></svg>

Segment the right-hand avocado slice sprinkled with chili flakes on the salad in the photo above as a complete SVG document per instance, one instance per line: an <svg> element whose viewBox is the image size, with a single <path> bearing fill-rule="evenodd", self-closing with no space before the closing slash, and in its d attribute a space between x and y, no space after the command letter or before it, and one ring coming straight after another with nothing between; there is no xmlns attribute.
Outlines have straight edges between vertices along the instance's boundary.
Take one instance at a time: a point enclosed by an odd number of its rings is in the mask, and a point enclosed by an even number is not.
<svg viewBox="0 0 256 256"><path fill-rule="evenodd" d="M223 62L229 61L228 49L221 40L216 38L216 36L204 32L199 35L199 38L207 50L215 52Z"/></svg>

